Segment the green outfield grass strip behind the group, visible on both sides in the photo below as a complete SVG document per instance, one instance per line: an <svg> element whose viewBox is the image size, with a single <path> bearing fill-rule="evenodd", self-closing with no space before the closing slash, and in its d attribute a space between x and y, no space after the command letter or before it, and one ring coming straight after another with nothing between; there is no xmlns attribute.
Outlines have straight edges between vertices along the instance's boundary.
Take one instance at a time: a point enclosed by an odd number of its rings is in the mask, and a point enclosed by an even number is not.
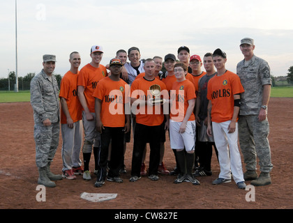
<svg viewBox="0 0 293 223"><path fill-rule="evenodd" d="M29 91L0 91L0 103L4 102L29 102L31 94ZM292 86L282 86L271 88L272 98L293 98L293 87Z"/></svg>

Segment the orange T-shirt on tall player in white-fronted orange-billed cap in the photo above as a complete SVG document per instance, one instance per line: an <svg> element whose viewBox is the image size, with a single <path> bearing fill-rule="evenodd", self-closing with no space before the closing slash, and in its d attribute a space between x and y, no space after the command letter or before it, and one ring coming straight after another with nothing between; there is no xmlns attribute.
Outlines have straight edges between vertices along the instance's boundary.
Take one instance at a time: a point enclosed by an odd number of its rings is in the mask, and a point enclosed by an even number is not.
<svg viewBox="0 0 293 223"><path fill-rule="evenodd" d="M100 79L107 76L107 69L101 65L98 68L94 68L91 64L87 64L80 70L77 86L84 87L84 97L87 100L87 107L89 112L95 112L95 98L93 98L93 91Z"/></svg>

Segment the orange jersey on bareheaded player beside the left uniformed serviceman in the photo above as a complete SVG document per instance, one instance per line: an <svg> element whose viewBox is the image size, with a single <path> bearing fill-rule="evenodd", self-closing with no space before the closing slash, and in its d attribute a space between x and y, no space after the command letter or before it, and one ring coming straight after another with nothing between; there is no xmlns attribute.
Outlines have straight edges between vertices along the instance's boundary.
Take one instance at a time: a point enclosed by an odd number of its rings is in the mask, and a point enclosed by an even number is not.
<svg viewBox="0 0 293 223"><path fill-rule="evenodd" d="M82 105L77 96L77 77L78 73L74 74L70 70L61 79L59 98L65 98L70 117L73 122L82 120ZM66 124L67 118L63 109L61 109L61 123Z"/></svg>

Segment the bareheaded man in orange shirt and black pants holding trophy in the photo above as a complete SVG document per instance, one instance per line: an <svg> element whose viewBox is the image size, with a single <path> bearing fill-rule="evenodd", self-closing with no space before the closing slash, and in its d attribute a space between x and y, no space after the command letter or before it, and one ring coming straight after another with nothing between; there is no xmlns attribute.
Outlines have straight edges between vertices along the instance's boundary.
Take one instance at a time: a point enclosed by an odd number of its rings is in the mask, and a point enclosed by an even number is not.
<svg viewBox="0 0 293 223"><path fill-rule="evenodd" d="M141 178L142 155L147 143L150 147L149 178L158 180L161 132L162 128L169 128L169 94L165 84L155 78L155 69L155 61L147 59L144 62L144 77L135 79L131 84L131 104L132 112L136 115L136 125L130 182ZM164 115L167 120L165 123Z"/></svg>

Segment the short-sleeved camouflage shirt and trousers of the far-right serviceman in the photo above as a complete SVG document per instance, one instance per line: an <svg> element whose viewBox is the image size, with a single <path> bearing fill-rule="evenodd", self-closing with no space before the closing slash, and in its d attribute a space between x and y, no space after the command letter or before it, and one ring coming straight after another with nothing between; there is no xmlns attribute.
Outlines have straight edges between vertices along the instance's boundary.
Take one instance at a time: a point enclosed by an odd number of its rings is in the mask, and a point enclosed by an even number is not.
<svg viewBox="0 0 293 223"><path fill-rule="evenodd" d="M260 171L269 173L273 168L268 140L269 122L267 118L262 122L258 121L258 114L262 106L263 86L271 84L271 70L266 61L253 55L248 64L244 60L240 61L236 72L245 89L245 92L241 93L239 144L246 169L255 170L258 157Z"/></svg>

